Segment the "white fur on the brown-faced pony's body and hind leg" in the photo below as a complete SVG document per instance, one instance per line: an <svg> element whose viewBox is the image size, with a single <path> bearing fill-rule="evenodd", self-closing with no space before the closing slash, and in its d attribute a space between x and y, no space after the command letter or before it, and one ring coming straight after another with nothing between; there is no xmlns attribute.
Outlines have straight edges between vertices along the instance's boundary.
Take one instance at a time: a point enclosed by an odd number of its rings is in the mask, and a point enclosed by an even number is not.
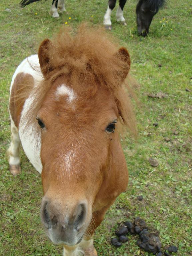
<svg viewBox="0 0 192 256"><path fill-rule="evenodd" d="M39 59L37 54L36 55L31 55L30 57L26 58L21 62L21 64L17 67L12 81L11 81L11 87L10 87L10 92L14 83L14 80L19 73L26 73L30 74L33 76L34 79L34 85L38 86L39 82L42 81L43 75L40 70L40 65L39 65ZM11 118L11 132L12 132L12 141L11 141L11 146L9 148L9 152L11 150L11 154L14 153L14 157L10 157L9 159L9 164L17 164L20 163L19 160L19 141L21 140L21 144L23 146L23 150L25 151L25 154L29 158L30 162L32 165L36 168L38 172L41 173L42 171L42 163L41 163L41 158L40 158L40 149L41 149L41 138L39 138L39 142L36 143L35 138L34 138L34 133L32 131L33 127L29 127L29 129L23 129L25 127L25 120L23 119L24 114L26 113L27 109L30 108L32 104L32 97L29 97L23 106L23 111L21 113L21 119L19 123L19 131L15 127L14 122ZM17 132L15 132L17 129ZM20 140L19 140L20 138ZM16 152L17 151L17 152Z"/></svg>

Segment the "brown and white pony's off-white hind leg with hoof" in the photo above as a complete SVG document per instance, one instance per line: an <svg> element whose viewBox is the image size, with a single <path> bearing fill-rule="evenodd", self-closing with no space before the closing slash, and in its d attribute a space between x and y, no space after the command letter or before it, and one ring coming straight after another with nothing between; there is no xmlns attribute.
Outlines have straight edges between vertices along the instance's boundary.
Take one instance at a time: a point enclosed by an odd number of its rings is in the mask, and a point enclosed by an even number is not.
<svg viewBox="0 0 192 256"><path fill-rule="evenodd" d="M9 170L13 175L17 175L21 172L19 158L20 145L21 141L19 138L18 128L11 120L11 145L7 150L7 153L9 155Z"/></svg>

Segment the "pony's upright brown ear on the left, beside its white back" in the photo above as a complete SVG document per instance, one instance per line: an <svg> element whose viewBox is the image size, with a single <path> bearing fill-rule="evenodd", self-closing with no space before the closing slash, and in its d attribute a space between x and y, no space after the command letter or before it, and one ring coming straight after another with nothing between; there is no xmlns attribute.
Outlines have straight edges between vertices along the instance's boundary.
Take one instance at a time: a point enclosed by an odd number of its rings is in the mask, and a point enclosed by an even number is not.
<svg viewBox="0 0 192 256"><path fill-rule="evenodd" d="M52 43L49 39L43 40L43 42L39 46L38 57L39 57L39 64L41 67L41 72L46 77L46 75L52 71L51 61L49 57L49 49Z"/></svg>

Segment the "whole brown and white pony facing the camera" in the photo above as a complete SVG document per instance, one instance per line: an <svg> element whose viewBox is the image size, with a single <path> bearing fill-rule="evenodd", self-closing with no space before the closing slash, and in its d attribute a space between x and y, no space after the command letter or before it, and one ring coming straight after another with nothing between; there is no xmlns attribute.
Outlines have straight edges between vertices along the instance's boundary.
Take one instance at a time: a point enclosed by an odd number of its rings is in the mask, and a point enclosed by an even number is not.
<svg viewBox="0 0 192 256"><path fill-rule="evenodd" d="M63 29L45 39L13 75L10 171L21 171L22 144L42 175L42 223L65 256L97 255L95 229L127 187L118 130L120 123L135 130L122 85L129 69L125 48L81 25L76 34Z"/></svg>

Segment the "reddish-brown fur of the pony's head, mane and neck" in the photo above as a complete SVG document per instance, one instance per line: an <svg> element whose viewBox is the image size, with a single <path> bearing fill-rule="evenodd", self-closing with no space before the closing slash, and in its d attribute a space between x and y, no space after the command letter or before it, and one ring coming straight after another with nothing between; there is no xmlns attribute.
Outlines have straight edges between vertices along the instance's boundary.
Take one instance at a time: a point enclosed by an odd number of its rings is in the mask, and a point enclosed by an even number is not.
<svg viewBox="0 0 192 256"><path fill-rule="evenodd" d="M136 131L130 90L124 82L130 57L102 29L85 25L76 34L63 29L52 41L44 40L38 55L44 80L32 91L35 100L26 115L26 128L37 123L37 116L45 124L37 131L47 215L61 226L66 214L74 229L77 205L86 201L87 215L78 232L90 237L128 183L119 122L115 133L107 133L106 127L118 119ZM73 89L74 102L67 101L65 94L56 97L63 84ZM71 152L69 164L66 157ZM67 236L66 232L65 239L70 240Z"/></svg>

